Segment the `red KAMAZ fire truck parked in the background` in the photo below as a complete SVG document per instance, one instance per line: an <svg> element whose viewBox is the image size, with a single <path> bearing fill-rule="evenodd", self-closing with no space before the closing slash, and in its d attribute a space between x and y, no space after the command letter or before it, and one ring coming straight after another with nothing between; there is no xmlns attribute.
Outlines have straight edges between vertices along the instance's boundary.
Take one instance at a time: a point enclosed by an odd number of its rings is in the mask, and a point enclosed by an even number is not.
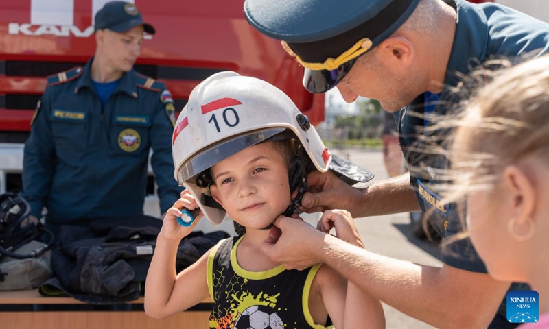
<svg viewBox="0 0 549 329"><path fill-rule="evenodd" d="M108 1L0 2L0 193L21 189L23 145L45 77L86 63L95 51L93 16ZM176 109L200 81L229 70L278 86L313 123L323 121L324 96L303 88L303 69L278 41L248 25L244 0L126 1L156 28L135 69L165 82Z"/></svg>

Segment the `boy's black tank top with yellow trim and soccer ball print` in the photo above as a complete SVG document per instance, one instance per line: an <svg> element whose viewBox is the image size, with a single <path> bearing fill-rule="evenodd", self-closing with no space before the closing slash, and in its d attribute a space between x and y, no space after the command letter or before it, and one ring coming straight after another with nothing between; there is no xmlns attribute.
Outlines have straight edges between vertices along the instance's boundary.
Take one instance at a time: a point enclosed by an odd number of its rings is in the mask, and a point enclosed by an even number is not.
<svg viewBox="0 0 549 329"><path fill-rule="evenodd" d="M236 258L243 237L222 241L209 255L207 281L214 302L210 328L332 328L314 324L309 313L309 291L320 264L303 271L282 265L246 271Z"/></svg>

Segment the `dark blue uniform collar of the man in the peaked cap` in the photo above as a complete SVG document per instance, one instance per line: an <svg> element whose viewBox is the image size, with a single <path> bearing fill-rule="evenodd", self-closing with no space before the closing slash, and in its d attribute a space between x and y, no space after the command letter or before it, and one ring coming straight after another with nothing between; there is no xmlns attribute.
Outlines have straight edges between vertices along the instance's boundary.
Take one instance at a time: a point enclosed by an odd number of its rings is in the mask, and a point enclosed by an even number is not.
<svg viewBox="0 0 549 329"><path fill-rule="evenodd" d="M454 1L458 21L444 81L445 86L452 87L461 81L461 75L469 73L471 66L484 62L488 40L488 19L482 9L465 0Z"/></svg>

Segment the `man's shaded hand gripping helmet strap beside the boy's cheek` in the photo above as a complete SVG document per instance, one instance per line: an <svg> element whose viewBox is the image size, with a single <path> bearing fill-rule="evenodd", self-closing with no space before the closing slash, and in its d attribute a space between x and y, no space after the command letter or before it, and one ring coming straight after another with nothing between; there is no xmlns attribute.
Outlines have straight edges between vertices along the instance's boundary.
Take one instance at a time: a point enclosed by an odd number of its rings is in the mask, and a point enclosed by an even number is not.
<svg viewBox="0 0 549 329"><path fill-rule="evenodd" d="M360 217L364 206L360 202L362 191L353 188L328 171L313 171L307 176L309 191L301 199L301 211L325 212L329 209L345 209L353 216Z"/></svg>

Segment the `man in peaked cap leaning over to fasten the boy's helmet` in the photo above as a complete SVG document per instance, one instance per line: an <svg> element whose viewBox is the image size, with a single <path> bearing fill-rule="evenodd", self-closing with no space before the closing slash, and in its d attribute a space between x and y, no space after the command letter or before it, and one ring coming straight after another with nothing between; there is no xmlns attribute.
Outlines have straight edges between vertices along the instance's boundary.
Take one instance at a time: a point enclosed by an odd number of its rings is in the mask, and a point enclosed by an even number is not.
<svg viewBox="0 0 549 329"><path fill-rule="evenodd" d="M317 193L306 193L303 206L366 217L419 210L419 202L445 239L455 236L461 230L455 206L441 204L428 188L439 183L437 169L446 165L423 152L418 136L432 123L410 110L445 114L456 103L453 87L479 64L548 52L549 25L502 5L465 0L246 0L244 10L253 27L282 40L304 67L309 91L337 86L349 102L370 97L394 112L408 165L428 167L362 192L330 173L312 173L309 186ZM498 311L509 282L487 275L469 239L443 248L439 268L353 248L299 221L281 218L276 225L281 235L273 234L263 251L286 267L327 263L379 300L437 328L515 326L506 321L504 304Z"/></svg>

